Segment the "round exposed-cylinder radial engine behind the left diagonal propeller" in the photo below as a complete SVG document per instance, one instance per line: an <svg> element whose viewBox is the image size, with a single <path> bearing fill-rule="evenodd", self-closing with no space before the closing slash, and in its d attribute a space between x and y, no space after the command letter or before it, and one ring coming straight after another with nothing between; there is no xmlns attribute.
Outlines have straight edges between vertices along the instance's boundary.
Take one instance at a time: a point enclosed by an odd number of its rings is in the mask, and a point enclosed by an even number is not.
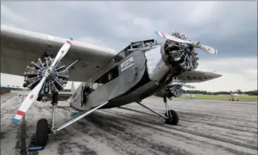
<svg viewBox="0 0 258 155"><path fill-rule="evenodd" d="M23 87L28 87L32 90L39 84L45 71L47 71L53 61L54 59L48 56L43 60L39 58L39 60L31 62L30 66L26 67L25 73L23 73L25 77ZM67 84L68 79L69 75L65 65L58 62L50 76L45 80L40 94L57 93L61 91L65 87L65 84Z"/></svg>

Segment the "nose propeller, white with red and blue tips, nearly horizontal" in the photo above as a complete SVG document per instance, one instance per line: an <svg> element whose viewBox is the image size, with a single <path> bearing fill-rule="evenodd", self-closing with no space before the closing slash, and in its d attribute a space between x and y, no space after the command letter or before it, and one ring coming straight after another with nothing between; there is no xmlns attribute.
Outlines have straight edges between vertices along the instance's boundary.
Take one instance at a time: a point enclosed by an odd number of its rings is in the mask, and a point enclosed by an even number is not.
<svg viewBox="0 0 258 155"><path fill-rule="evenodd" d="M184 44L188 44L191 45L193 47L202 49L203 51L206 51L207 53L211 53L211 54L215 54L217 55L217 49L214 49L213 47L207 46L207 45L201 45L200 42L193 42L193 41L189 41L189 40L182 40L180 38L177 38L175 36L171 36L169 34L165 34L163 32L159 32L159 31L155 31L155 34L157 34L158 36L161 36L162 38L166 38L178 43L184 43Z"/></svg>

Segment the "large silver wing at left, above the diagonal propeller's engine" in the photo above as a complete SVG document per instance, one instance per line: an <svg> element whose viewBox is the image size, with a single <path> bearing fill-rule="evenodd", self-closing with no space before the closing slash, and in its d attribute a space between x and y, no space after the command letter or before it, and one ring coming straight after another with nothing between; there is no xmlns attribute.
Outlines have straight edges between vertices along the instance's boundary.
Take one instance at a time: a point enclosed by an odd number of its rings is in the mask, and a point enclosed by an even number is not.
<svg viewBox="0 0 258 155"><path fill-rule="evenodd" d="M66 40L1 25L1 73L23 76L26 66L41 58L46 50L55 57ZM115 54L114 49L81 43L74 38L72 47L61 63L68 67L78 59L69 69L69 81L83 82L105 66Z"/></svg>

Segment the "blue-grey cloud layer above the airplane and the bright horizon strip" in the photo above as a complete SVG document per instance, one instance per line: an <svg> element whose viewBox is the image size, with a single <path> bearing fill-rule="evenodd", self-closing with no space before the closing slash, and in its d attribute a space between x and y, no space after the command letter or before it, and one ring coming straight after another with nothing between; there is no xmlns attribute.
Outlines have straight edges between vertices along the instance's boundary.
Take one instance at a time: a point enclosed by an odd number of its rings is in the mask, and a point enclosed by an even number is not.
<svg viewBox="0 0 258 155"><path fill-rule="evenodd" d="M256 2L2 2L25 21L1 14L1 24L55 36L101 40L120 49L178 30L219 50L219 57L257 56ZM1 6L2 7L2 6ZM4 10L1 10L1 12ZM14 14L13 13L13 14ZM18 17L16 17L18 18ZM158 38L162 40L162 38ZM206 53L200 56L210 58Z"/></svg>

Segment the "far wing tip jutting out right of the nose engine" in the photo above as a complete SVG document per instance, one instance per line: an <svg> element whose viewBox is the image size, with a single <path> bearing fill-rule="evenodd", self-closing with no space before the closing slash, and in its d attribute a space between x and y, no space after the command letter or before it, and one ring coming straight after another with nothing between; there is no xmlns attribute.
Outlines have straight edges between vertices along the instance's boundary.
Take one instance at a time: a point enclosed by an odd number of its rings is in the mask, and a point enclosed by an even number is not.
<svg viewBox="0 0 258 155"><path fill-rule="evenodd" d="M205 82L208 80L213 80L219 78L222 75L217 73L211 73L206 71L185 71L178 76L178 80L184 83L195 83L195 82Z"/></svg>

